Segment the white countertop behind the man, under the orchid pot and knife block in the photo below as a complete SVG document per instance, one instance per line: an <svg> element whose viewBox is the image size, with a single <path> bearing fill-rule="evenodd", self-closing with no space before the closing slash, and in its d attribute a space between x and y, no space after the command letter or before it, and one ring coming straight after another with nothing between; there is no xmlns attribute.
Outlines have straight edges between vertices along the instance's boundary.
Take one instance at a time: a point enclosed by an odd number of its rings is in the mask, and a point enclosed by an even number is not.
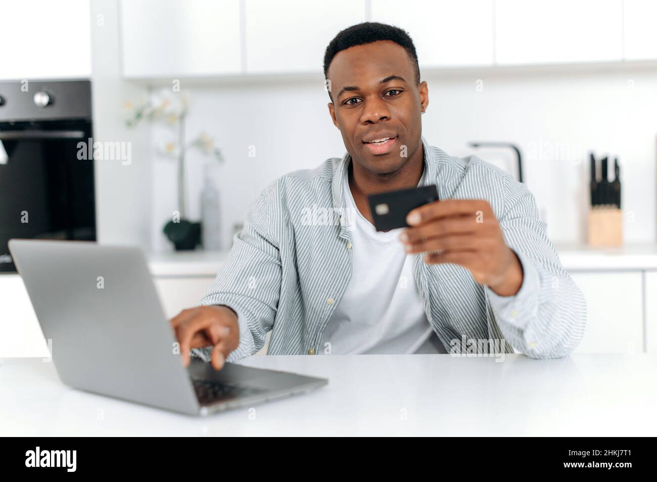
<svg viewBox="0 0 657 482"><path fill-rule="evenodd" d="M657 244L629 244L621 248L591 248L556 244L566 271L657 270ZM154 276L217 276L228 251L148 253Z"/></svg>

